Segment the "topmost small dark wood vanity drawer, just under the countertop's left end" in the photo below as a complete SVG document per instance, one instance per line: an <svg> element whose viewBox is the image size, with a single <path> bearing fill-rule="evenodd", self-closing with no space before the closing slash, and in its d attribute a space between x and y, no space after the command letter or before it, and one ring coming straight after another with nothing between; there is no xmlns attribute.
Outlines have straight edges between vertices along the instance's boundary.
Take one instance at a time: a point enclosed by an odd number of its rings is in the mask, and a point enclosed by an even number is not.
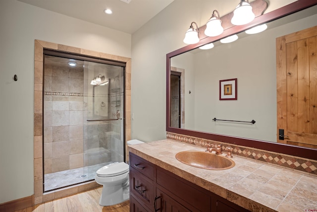
<svg viewBox="0 0 317 212"><path fill-rule="evenodd" d="M149 177L151 180L154 178L154 165L143 158L130 153L130 166L133 169L138 170L145 176Z"/></svg>

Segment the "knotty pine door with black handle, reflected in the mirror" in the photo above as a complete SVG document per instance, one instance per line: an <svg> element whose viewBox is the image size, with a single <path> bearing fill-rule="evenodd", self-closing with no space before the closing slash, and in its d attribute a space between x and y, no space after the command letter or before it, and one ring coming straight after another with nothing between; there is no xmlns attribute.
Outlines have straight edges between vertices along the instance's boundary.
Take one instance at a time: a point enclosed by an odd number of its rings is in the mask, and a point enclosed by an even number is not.
<svg viewBox="0 0 317 212"><path fill-rule="evenodd" d="M276 74L277 141L317 148L317 26L276 38Z"/></svg>

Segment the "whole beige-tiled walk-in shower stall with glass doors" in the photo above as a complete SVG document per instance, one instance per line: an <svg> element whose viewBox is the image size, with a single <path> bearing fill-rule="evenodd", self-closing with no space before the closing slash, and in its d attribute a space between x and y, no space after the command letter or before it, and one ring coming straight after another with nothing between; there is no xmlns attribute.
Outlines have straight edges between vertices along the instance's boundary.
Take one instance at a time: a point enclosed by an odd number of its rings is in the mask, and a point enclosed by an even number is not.
<svg viewBox="0 0 317 212"><path fill-rule="evenodd" d="M44 50L44 192L125 161L125 64Z"/></svg>

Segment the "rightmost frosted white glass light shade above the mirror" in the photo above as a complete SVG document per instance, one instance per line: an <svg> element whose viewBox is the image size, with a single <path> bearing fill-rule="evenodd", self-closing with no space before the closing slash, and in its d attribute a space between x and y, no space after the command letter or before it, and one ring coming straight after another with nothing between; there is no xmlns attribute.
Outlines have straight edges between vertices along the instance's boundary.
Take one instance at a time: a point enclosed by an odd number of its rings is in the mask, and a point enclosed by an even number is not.
<svg viewBox="0 0 317 212"><path fill-rule="evenodd" d="M252 11L249 0L241 0L233 11L231 23L234 25L244 25L250 23L254 18L255 14Z"/></svg>

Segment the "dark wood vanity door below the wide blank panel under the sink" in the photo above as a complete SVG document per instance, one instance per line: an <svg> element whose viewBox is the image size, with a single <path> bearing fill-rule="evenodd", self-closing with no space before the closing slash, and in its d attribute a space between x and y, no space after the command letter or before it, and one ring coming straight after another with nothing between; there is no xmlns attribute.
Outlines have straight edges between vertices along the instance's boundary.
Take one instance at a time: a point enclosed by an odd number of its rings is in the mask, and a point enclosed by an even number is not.
<svg viewBox="0 0 317 212"><path fill-rule="evenodd" d="M157 189L157 197L154 205L156 212L190 212L190 210L159 189Z"/></svg>

